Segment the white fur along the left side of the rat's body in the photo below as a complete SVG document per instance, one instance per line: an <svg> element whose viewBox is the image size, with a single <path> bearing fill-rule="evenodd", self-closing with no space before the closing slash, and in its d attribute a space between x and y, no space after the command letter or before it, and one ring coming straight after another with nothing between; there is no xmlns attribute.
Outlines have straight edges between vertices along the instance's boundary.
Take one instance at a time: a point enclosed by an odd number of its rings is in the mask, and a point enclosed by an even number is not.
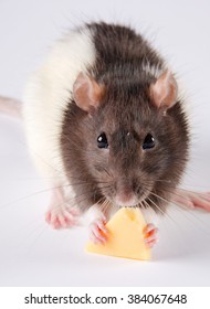
<svg viewBox="0 0 210 309"><path fill-rule="evenodd" d="M65 174L60 148L64 110L76 76L94 61L91 32L72 31L55 43L27 84L23 118L29 149L42 175L57 180L53 183L63 182L61 177Z"/></svg>

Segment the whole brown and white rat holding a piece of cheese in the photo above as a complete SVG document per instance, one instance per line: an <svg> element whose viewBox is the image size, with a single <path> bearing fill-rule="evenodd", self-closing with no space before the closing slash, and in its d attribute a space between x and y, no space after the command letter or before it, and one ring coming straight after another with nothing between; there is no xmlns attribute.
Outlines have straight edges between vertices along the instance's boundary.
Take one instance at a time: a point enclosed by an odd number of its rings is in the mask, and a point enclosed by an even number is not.
<svg viewBox="0 0 210 309"><path fill-rule="evenodd" d="M46 222L72 227L94 209L90 235L105 243L111 214L139 207L153 247L153 216L170 202L210 211L208 192L178 189L190 145L185 105L166 61L129 26L86 23L55 42L21 106L29 150L52 187Z"/></svg>

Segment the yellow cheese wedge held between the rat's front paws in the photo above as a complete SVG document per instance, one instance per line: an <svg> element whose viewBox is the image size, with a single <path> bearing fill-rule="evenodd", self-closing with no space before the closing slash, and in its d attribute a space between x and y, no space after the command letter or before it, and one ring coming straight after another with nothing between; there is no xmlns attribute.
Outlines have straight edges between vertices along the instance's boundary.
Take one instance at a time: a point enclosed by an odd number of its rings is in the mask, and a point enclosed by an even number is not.
<svg viewBox="0 0 210 309"><path fill-rule="evenodd" d="M108 236L105 244L88 242L90 253L135 259L150 259L150 249L144 242L146 222L139 209L123 207L106 224Z"/></svg>

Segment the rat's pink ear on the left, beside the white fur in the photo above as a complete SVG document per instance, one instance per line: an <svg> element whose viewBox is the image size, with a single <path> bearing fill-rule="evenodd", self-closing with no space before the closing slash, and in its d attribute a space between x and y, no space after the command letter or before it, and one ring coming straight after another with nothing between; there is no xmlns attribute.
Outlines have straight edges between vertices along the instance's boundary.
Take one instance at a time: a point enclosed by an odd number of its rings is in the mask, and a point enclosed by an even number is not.
<svg viewBox="0 0 210 309"><path fill-rule="evenodd" d="M78 74L73 85L73 98L76 105L87 113L99 106L103 92L104 87L83 72Z"/></svg>

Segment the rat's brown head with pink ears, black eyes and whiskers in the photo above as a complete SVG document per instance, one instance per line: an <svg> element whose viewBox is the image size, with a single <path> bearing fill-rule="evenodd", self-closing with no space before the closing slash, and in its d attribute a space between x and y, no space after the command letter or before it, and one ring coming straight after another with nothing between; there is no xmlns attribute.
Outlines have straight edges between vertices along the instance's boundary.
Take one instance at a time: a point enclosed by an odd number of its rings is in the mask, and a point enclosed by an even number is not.
<svg viewBox="0 0 210 309"><path fill-rule="evenodd" d="M177 92L168 71L143 86L99 84L78 75L65 166L91 183L93 202L154 209L166 202L188 156L188 126Z"/></svg>

